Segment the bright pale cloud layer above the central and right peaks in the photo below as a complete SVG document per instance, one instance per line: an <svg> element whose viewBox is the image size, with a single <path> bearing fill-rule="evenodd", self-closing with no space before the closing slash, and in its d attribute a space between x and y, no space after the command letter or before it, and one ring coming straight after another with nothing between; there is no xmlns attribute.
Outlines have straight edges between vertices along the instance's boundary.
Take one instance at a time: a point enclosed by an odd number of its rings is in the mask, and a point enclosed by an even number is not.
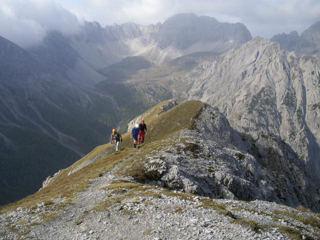
<svg viewBox="0 0 320 240"><path fill-rule="evenodd" d="M60 0L60 3L65 0ZM69 0L70 2L71 0ZM78 2L78 1L77 1ZM101 26L135 22L163 22L181 12L215 17L221 22L242 22L252 36L269 38L277 33L301 33L320 20L319 0L80 0L72 9L81 19Z"/></svg>

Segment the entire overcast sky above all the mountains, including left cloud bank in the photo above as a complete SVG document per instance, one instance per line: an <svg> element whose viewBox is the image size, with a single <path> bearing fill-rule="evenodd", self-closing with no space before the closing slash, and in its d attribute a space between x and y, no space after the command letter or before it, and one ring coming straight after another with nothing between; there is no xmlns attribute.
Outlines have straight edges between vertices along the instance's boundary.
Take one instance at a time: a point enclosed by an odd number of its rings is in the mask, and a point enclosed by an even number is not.
<svg viewBox="0 0 320 240"><path fill-rule="evenodd" d="M84 20L146 25L181 12L242 22L252 37L270 38L319 21L320 0L0 0L0 35L28 47L48 30L75 33Z"/></svg>

